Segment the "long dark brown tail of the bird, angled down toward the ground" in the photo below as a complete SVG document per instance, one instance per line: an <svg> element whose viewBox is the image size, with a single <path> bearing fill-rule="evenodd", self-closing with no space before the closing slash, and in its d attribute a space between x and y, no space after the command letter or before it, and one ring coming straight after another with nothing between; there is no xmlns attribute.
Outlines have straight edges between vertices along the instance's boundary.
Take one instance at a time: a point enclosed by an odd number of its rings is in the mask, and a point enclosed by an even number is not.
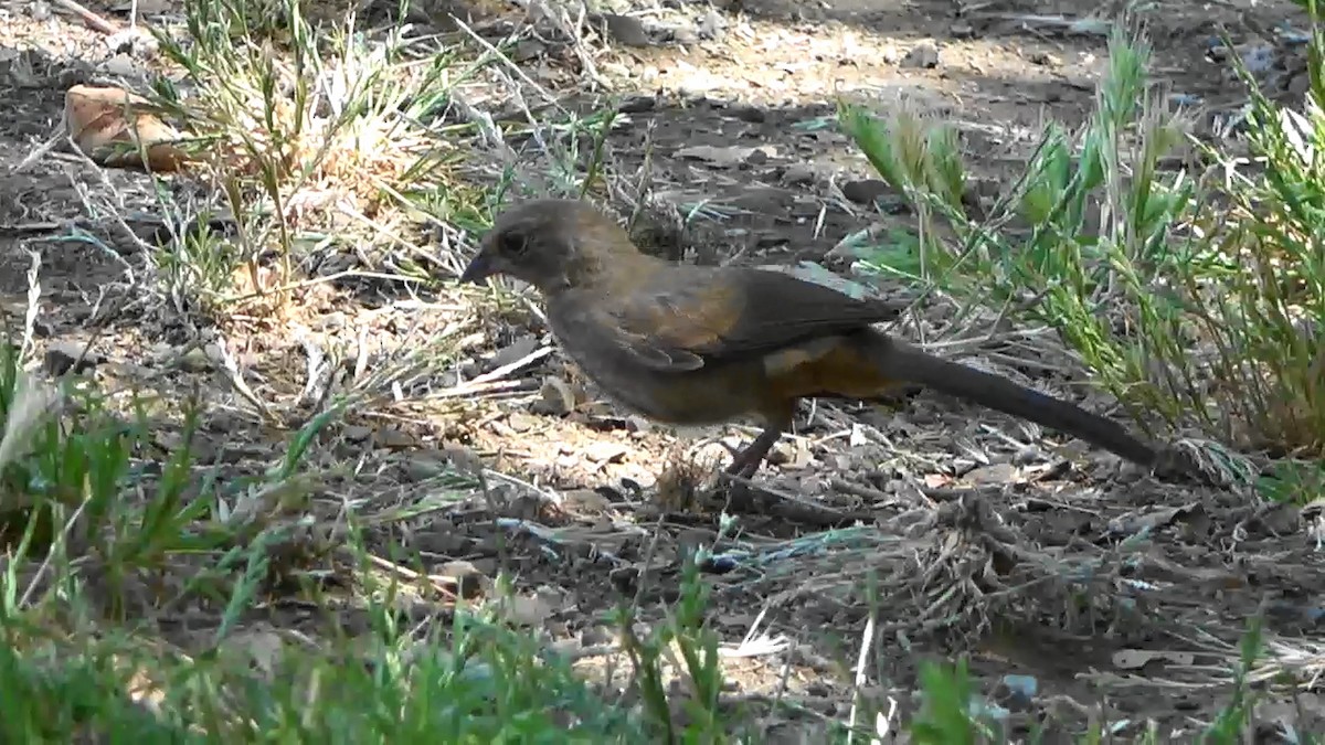
<svg viewBox="0 0 1325 745"><path fill-rule="evenodd" d="M1073 403L1047 396L1007 378L942 359L876 333L873 357L884 375L1011 414L1080 437L1141 465L1154 465L1155 448L1121 424Z"/></svg>

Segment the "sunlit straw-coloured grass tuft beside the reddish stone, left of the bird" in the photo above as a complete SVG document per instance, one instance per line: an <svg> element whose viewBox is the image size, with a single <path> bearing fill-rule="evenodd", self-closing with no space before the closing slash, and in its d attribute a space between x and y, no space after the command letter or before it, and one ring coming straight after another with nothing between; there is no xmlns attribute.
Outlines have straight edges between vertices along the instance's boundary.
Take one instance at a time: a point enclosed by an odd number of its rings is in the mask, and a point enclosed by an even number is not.
<svg viewBox="0 0 1325 745"><path fill-rule="evenodd" d="M224 196L212 208L236 225L236 245L195 231L159 262L212 304L290 285L301 261L334 247L360 248L363 274L425 280L429 258L405 237L412 225L469 219L484 201L457 176L472 127L429 122L484 60L411 38L407 27L367 32L352 13L315 24L299 0L266 5L188 0L186 36L154 30L183 72L158 78L154 103L184 122L203 178ZM362 255L360 244L386 252ZM264 258L276 260L270 278Z"/></svg>

